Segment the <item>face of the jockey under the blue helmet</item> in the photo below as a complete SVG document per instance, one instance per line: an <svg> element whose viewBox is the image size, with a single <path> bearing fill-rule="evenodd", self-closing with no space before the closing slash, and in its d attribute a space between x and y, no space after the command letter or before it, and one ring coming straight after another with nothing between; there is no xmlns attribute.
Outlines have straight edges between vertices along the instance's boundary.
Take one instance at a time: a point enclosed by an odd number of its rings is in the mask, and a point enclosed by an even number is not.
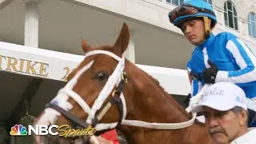
<svg viewBox="0 0 256 144"><path fill-rule="evenodd" d="M182 22L182 31L194 46L198 46L205 38L204 24L201 18L188 19Z"/></svg>

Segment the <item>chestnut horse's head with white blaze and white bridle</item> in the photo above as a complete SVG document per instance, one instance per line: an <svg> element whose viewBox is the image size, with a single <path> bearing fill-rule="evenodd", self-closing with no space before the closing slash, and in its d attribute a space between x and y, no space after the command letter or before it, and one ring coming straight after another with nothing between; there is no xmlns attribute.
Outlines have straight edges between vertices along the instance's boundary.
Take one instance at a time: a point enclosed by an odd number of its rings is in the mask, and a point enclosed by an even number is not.
<svg viewBox="0 0 256 144"><path fill-rule="evenodd" d="M122 88L126 83L124 52L129 38L128 26L124 23L114 46L93 47L82 39L82 49L86 53L84 60L69 75L66 86L58 91L34 124L69 125L80 130L96 125L96 130L117 126L121 122L119 116L125 115L119 104L125 103L122 102ZM36 139L42 142L42 138ZM62 141L71 142L72 138L54 138L54 143Z"/></svg>

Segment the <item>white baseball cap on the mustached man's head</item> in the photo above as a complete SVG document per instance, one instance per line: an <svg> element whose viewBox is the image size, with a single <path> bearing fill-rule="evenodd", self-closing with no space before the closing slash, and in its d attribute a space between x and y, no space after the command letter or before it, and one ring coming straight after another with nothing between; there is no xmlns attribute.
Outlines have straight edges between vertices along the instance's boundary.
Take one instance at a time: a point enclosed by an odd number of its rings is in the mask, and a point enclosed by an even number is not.
<svg viewBox="0 0 256 144"><path fill-rule="evenodd" d="M247 110L246 94L239 86L233 83L217 82L205 90L202 99L198 102L197 106L194 106L191 112L201 112L202 106L220 111L230 110L234 106Z"/></svg>

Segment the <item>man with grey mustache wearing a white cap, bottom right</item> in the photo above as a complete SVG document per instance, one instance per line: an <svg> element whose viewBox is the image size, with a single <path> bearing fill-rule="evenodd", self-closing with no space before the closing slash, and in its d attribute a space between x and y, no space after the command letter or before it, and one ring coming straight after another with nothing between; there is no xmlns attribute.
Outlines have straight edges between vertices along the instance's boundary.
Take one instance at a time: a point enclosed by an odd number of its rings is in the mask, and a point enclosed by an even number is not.
<svg viewBox="0 0 256 144"><path fill-rule="evenodd" d="M256 129L247 128L246 94L230 82L218 82L205 90L191 112L202 112L216 144L255 144Z"/></svg>

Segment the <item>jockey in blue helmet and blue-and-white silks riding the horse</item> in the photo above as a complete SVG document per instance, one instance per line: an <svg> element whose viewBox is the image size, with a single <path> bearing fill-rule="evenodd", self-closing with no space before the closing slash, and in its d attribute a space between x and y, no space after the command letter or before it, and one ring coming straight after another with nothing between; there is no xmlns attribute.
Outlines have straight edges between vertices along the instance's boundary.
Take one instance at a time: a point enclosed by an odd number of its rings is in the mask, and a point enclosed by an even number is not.
<svg viewBox="0 0 256 144"><path fill-rule="evenodd" d="M212 34L217 18L212 6L203 0L186 0L170 11L169 18L196 46L187 62L190 75L197 76L191 82L192 97L206 83L234 83L245 91L250 116L255 119L256 57L250 48L234 34Z"/></svg>

